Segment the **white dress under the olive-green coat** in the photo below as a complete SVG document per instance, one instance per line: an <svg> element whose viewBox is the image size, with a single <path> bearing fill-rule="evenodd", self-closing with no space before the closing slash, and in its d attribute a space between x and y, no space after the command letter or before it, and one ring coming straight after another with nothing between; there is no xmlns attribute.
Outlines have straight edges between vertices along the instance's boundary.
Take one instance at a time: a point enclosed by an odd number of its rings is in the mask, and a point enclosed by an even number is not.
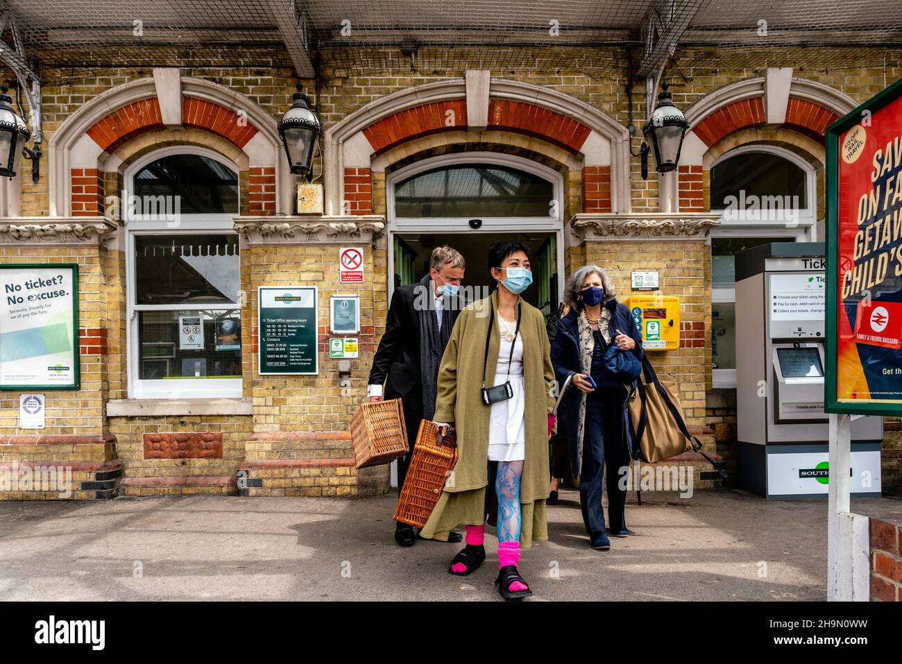
<svg viewBox="0 0 902 664"><path fill-rule="evenodd" d="M509 323L501 316L496 318L501 334L501 348L498 351L498 366L495 369L495 385L511 381L513 396L504 401L492 403L489 422L489 461L518 461L526 458L526 420L524 419L523 390L523 337L517 335L511 357L511 376L508 378L508 356L511 355L511 340L514 338L516 322ZM492 387L492 385L490 385Z"/></svg>

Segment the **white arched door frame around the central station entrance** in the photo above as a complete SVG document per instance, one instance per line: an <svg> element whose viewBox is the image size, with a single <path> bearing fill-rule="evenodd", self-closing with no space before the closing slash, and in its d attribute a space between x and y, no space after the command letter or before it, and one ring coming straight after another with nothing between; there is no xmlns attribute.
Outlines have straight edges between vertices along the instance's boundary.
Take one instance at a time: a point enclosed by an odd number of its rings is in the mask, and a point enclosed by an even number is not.
<svg viewBox="0 0 902 664"><path fill-rule="evenodd" d="M483 225L470 227L473 217L395 217L395 187L418 173L432 171L443 166L475 163L506 166L525 171L552 185L554 200L558 201L557 215L552 217L480 217ZM502 152L455 152L415 161L398 171L393 171L385 179L386 209L388 211L388 297L394 292L394 235L411 233L552 233L556 235L558 273L564 270L564 176L548 166ZM557 300L564 296L564 281L558 279Z"/></svg>

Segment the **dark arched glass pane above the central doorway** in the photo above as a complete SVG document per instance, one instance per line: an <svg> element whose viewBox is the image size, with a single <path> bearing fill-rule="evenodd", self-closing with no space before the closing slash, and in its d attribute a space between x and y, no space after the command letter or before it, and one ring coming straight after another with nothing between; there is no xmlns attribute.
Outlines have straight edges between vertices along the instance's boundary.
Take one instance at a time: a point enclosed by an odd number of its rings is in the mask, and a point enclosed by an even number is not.
<svg viewBox="0 0 902 664"><path fill-rule="evenodd" d="M548 217L554 185L495 164L454 164L395 186L395 217Z"/></svg>

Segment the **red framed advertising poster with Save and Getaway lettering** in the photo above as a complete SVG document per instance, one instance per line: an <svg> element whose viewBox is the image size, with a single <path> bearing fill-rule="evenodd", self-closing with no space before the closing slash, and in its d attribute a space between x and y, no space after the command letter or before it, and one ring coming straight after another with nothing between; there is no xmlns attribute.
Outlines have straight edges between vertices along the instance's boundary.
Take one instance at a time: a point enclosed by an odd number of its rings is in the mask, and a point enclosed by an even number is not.
<svg viewBox="0 0 902 664"><path fill-rule="evenodd" d="M826 139L826 410L900 415L902 80Z"/></svg>

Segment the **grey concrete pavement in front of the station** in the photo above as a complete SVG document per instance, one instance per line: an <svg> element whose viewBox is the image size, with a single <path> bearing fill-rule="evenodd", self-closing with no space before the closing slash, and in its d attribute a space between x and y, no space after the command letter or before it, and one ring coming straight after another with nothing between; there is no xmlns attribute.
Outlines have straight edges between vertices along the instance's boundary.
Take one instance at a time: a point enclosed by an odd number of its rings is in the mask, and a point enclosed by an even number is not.
<svg viewBox="0 0 902 664"><path fill-rule="evenodd" d="M5 600L492 600L494 530L483 567L446 573L462 545L392 539L395 496L118 498L0 503ZM548 508L548 542L524 550L535 595L555 600L824 600L826 500L768 502L740 491L630 493L635 535L588 546L578 494ZM859 513L898 498L852 499ZM463 528L458 529L463 532Z"/></svg>

